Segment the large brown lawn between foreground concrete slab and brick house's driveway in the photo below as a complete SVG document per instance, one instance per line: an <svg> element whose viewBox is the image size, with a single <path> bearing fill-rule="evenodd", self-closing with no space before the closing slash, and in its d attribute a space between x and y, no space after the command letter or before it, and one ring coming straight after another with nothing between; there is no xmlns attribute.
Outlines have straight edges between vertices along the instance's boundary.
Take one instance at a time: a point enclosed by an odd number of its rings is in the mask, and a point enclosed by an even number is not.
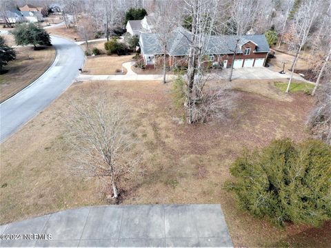
<svg viewBox="0 0 331 248"><path fill-rule="evenodd" d="M219 203L235 247L330 245L331 223L321 228L277 229L238 209L232 194L223 189L230 178L229 166L243 147L263 147L272 138L301 141L308 137L304 121L312 107L310 96L296 93L291 94L292 101L279 101L235 91L230 120L188 126L173 121L180 113L172 105L170 85L152 81L75 83L2 143L1 223L106 204L99 180L68 173L70 149L62 118L70 99L95 85L114 96L110 101L130 106L132 137L139 141L136 152L142 154L139 167L145 174L121 184L123 204Z"/></svg>

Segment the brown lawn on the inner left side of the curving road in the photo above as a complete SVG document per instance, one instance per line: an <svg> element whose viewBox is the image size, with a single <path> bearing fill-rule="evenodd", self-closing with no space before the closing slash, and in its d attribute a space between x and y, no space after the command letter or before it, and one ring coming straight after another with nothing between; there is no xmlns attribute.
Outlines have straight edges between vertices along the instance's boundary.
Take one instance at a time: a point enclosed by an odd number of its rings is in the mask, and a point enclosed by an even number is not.
<svg viewBox="0 0 331 248"><path fill-rule="evenodd" d="M43 47L41 50L22 47L15 48L15 51L17 59L4 67L8 70L6 74L0 75L0 102L37 79L52 64L55 57L52 47Z"/></svg>

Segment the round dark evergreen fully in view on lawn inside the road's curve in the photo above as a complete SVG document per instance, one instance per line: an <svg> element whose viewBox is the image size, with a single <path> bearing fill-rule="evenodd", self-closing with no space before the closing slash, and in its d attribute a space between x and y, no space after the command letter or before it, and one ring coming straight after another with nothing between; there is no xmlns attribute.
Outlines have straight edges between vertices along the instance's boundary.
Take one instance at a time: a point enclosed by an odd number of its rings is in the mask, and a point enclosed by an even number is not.
<svg viewBox="0 0 331 248"><path fill-rule="evenodd" d="M17 25L11 32L17 45L52 45L50 34L33 23Z"/></svg>

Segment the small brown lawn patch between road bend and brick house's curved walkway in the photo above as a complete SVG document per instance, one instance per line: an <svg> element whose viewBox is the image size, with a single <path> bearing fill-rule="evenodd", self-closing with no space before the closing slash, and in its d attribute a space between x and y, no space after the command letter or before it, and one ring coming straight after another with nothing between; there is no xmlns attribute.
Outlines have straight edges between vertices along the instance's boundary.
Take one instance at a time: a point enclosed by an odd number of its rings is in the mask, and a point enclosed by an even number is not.
<svg viewBox="0 0 331 248"><path fill-rule="evenodd" d="M98 55L98 56L88 56L83 67L83 73L89 75L112 75L112 74L122 74L121 68L122 63L132 61L132 56L124 55ZM123 68L123 72L126 73L126 69Z"/></svg>

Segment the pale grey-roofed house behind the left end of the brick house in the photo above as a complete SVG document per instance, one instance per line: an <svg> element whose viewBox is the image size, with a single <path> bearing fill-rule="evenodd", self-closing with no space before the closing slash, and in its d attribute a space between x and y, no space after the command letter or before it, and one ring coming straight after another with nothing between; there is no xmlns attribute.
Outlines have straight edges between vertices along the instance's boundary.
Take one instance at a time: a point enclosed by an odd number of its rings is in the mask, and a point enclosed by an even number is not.
<svg viewBox="0 0 331 248"><path fill-rule="evenodd" d="M126 24L126 31L132 36L140 36L140 34L143 32L153 32L156 23L157 19L154 17L154 14L148 14L147 16L143 17L142 20L128 21Z"/></svg>

